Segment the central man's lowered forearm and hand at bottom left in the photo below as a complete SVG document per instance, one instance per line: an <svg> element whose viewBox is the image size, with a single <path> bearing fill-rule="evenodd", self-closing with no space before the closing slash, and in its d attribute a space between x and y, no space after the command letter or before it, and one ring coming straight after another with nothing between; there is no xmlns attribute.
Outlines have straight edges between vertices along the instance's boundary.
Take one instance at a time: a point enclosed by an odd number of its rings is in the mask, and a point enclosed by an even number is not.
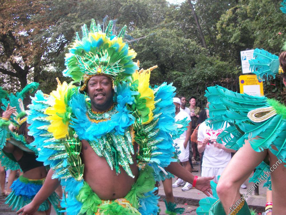
<svg viewBox="0 0 286 215"><path fill-rule="evenodd" d="M22 215L33 215L37 212L39 206L53 193L53 191L55 191L55 189L57 189L60 184L58 179L52 179L53 173L54 171L50 169L45 183L33 198L32 202L18 210L16 212L17 214L22 213Z"/></svg>

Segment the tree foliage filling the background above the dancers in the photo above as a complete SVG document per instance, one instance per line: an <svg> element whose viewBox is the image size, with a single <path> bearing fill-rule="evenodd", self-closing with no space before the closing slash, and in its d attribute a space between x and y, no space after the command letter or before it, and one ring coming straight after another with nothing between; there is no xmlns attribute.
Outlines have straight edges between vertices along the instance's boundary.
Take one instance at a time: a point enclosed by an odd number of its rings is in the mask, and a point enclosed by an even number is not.
<svg viewBox="0 0 286 215"><path fill-rule="evenodd" d="M165 0L3 0L0 81L9 91L29 81L38 81L46 93L55 89L55 77L66 80L61 75L64 54L75 32L94 18L102 28L109 20L114 20L115 30L127 25L125 40L132 40L129 43L141 67L158 65L152 71L152 85L173 82L179 95L197 95L204 101L207 86L223 84L229 77L237 80L241 50L259 47L280 52L286 33L280 2L186 0L176 5ZM283 99L279 89L269 89L268 94Z"/></svg>

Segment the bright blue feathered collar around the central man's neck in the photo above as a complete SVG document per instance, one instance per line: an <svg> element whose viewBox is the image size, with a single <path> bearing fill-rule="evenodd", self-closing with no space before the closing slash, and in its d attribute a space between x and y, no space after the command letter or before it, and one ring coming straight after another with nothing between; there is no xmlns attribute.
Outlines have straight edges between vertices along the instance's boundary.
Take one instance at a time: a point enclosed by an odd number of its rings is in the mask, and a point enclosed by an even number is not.
<svg viewBox="0 0 286 215"><path fill-rule="evenodd" d="M132 95L137 92L131 91L130 86L126 83L118 85L118 90L114 96L114 101L117 102L116 112L110 120L103 122L92 122L86 112L88 110L85 95L78 93L72 96L69 101L69 106L72 107L72 113L75 117L72 118L71 127L74 128L78 137L81 140L95 140L109 132L123 135L124 130L134 122L134 117L127 108L127 104L134 103Z"/></svg>

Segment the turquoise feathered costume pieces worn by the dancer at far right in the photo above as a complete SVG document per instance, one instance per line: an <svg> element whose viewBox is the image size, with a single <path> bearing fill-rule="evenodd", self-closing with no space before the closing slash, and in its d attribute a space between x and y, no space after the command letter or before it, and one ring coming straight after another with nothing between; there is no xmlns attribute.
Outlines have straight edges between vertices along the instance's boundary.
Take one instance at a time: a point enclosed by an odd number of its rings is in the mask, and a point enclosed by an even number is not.
<svg viewBox="0 0 286 215"><path fill-rule="evenodd" d="M279 66L278 56L263 49L255 49L250 68L261 81L270 79L278 73L283 73ZM275 99L264 96L251 96L230 91L221 86L208 87L205 96L210 102L210 126L220 128L225 123L229 124L219 136L218 142L226 142L227 148L238 150L248 140L253 150L260 152L269 149L276 155L280 163L286 162L286 107ZM271 189L271 177L264 172L269 171L269 164L263 161L249 182L257 183L263 175L264 187ZM267 175L268 177L265 177ZM243 197L242 197L243 198ZM205 198L200 202L198 214L225 214L219 199L211 208L204 206L204 201L214 201ZM244 200L231 214L251 214Z"/></svg>

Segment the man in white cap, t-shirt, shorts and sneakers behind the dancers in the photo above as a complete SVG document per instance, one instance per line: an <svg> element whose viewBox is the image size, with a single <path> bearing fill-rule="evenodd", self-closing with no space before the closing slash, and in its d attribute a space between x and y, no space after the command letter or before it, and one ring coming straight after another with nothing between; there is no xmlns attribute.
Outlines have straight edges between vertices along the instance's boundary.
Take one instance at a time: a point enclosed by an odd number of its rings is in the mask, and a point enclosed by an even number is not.
<svg viewBox="0 0 286 215"><path fill-rule="evenodd" d="M174 105L176 106L176 112L175 112L175 121L183 120L186 118L186 120L191 120L190 115L188 115L186 112L180 110L181 100L179 98L173 98ZM189 126L187 126L187 130L184 131L183 134L176 140L174 140L174 143L176 143L179 146L179 150L181 153L179 154L179 160L180 164L189 172L192 172L192 167L189 162L189 140L191 136L192 131L192 122L189 122ZM183 191L187 191L192 188L192 185L188 182L185 182L178 178L178 180L172 184L172 187L178 187L182 186Z"/></svg>

